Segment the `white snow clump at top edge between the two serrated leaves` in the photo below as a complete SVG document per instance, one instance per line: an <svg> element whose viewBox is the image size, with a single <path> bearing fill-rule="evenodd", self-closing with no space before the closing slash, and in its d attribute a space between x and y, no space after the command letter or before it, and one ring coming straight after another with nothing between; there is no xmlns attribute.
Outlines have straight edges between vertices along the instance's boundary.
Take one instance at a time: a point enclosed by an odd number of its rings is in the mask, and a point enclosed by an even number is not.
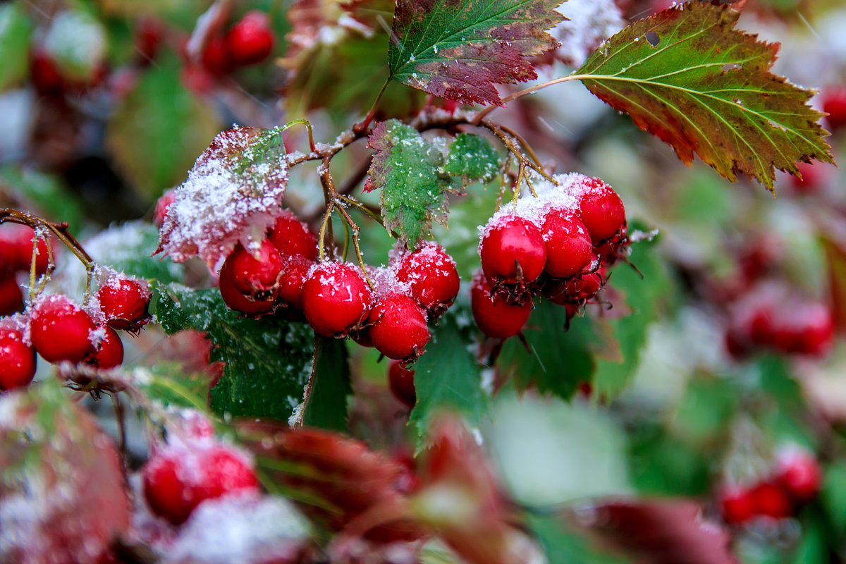
<svg viewBox="0 0 846 564"><path fill-rule="evenodd" d="M613 0L569 0L556 9L569 19L550 32L561 41L555 57L574 67L584 64L602 41L626 25Z"/></svg>

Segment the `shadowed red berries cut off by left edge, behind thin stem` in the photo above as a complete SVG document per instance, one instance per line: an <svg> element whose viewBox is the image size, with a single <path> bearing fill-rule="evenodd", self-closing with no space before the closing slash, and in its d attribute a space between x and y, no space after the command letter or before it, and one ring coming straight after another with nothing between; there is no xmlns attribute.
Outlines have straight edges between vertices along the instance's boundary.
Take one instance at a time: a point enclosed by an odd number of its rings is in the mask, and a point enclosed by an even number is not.
<svg viewBox="0 0 846 564"><path fill-rule="evenodd" d="M29 272L32 266L32 227L6 223L0 228L0 315L12 315L24 309L24 293L15 279L18 272ZM38 238L36 274L47 271L47 243Z"/></svg>

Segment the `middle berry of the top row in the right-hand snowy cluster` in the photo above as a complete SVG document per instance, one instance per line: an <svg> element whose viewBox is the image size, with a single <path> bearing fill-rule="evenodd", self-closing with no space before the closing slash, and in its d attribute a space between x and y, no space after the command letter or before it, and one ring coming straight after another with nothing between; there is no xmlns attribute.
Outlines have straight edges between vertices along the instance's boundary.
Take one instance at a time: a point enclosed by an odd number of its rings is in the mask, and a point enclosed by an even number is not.
<svg viewBox="0 0 846 564"><path fill-rule="evenodd" d="M551 277L567 278L591 263L591 234L573 211L553 208L543 218L541 229L547 245L544 271Z"/></svg>

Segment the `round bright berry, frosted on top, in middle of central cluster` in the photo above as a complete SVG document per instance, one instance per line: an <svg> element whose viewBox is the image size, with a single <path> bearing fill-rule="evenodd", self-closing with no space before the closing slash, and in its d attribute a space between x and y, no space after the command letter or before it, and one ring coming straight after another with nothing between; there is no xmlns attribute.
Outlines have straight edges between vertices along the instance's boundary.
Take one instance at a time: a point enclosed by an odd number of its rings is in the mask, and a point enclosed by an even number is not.
<svg viewBox="0 0 846 564"><path fill-rule="evenodd" d="M312 269L303 285L305 319L318 335L343 336L365 320L371 289L356 267L324 262Z"/></svg>

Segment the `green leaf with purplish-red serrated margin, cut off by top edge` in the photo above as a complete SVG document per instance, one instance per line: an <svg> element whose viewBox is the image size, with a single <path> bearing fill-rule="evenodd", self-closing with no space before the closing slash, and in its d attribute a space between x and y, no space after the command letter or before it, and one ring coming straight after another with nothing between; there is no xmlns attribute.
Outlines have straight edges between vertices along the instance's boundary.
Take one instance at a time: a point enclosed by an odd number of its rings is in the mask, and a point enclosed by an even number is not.
<svg viewBox="0 0 846 564"><path fill-rule="evenodd" d="M560 0L398 0L391 78L435 96L501 105L495 85L537 78L527 57L558 47Z"/></svg>

